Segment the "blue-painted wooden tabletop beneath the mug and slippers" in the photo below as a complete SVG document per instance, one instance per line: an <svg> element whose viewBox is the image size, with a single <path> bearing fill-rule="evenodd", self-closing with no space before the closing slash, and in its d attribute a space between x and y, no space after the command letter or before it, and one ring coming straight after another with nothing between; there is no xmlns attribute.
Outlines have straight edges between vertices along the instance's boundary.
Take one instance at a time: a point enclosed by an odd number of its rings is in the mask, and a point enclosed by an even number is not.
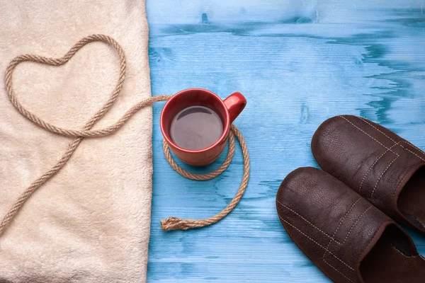
<svg viewBox="0 0 425 283"><path fill-rule="evenodd" d="M235 125L251 155L234 212L208 228L161 231L167 216L220 212L239 187L242 154L213 180L181 177L162 153L164 103L154 105L148 282L329 282L280 224L276 191L295 168L317 167L310 140L334 115L361 115L425 149L424 9L424 0L147 0L153 95L240 91L248 105ZM425 254L424 238L409 233Z"/></svg>

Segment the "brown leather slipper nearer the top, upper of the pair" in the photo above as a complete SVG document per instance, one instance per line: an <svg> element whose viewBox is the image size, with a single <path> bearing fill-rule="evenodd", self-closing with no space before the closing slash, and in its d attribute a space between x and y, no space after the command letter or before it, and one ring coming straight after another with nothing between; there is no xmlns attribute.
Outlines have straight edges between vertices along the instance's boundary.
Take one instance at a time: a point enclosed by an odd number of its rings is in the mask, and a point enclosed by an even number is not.
<svg viewBox="0 0 425 283"><path fill-rule="evenodd" d="M319 126L312 152L324 171L425 236L424 151L374 122L341 115Z"/></svg>

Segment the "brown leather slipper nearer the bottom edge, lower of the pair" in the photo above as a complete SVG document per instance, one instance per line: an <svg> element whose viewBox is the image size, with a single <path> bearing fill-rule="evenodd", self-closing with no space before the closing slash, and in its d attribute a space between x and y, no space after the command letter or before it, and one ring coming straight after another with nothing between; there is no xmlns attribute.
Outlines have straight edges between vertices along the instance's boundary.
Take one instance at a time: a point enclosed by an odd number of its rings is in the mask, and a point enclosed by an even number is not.
<svg viewBox="0 0 425 283"><path fill-rule="evenodd" d="M317 168L298 168L276 208L297 246L334 282L424 282L425 259L390 217Z"/></svg>

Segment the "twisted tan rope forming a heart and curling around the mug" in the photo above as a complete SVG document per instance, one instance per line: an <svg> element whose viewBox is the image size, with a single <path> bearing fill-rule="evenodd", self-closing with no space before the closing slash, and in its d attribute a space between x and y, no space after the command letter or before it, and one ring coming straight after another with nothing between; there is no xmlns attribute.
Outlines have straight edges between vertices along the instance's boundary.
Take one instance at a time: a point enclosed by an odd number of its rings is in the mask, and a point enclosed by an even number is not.
<svg viewBox="0 0 425 283"><path fill-rule="evenodd" d="M32 112L26 110L26 108L18 101L18 98L16 98L16 94L13 91L13 81L12 81L12 74L15 67L20 64L21 62L36 62L40 64L47 64L51 66L61 66L63 64L66 64L69 59L71 59L75 53L77 53L81 47L84 47L84 45L87 45L90 42L105 42L108 45L111 45L115 49L115 51L118 53L118 57L120 60L120 74L118 76L117 84L111 93L110 98L107 100L107 102L96 112L96 114L90 118L88 122L86 122L86 125L84 125L83 129L65 129L62 127L57 127L55 125L52 125L48 122L45 122L37 115L33 114ZM11 223L12 219L20 209L23 207L23 204L25 204L26 200L28 200L33 193L38 190L44 183L46 183L50 178L53 178L63 167L64 165L69 161L69 158L71 158L72 154L77 150L79 144L81 144L81 141L83 141L86 137L102 137L106 136L107 134L111 134L120 127L122 127L125 122L127 122L130 117L132 117L135 112L138 110L145 108L149 105L152 105L153 103L168 100L171 98L171 96L152 96L151 98L144 99L140 101L140 103L135 104L125 112L123 117L121 117L118 122L115 122L115 124L106 127L104 129L91 129L94 127L96 122L98 120L101 120L103 115L108 112L108 110L111 108L113 103L115 103L116 98L118 98L118 95L120 94L121 89L123 88L123 83L125 81L125 69L126 69L126 62L125 62L125 54L123 49L120 47L118 42L116 42L112 37L109 37L108 35L89 35L87 37L84 37L83 39L79 40L68 52L64 55L62 58L48 58L48 57L42 57L38 55L33 54L24 54L16 57L13 59L6 68L6 75L4 78L4 82L6 85L6 92L8 94L8 98L13 104L13 106L18 110L18 112L21 113L24 117L26 117L31 122L35 123L36 125L42 127L43 129L46 129L49 132L53 132L55 134L60 134L62 136L66 137L74 137L75 139L69 144L67 151L64 152L62 155L62 158L60 158L59 161L53 166L49 171L41 175L38 179L36 179L29 187L26 188L26 190L21 194L20 197L18 197L18 200L13 204L13 206L8 210L6 215L1 219L0 221L0 235L6 231L6 228ZM244 175L242 177L241 185L239 186L239 190L237 191L237 194L234 196L233 200L227 204L227 207L222 210L222 212L219 212L218 214L215 214L214 216L211 216L208 219L181 219L177 217L169 217L167 219L164 219L161 221L161 228L163 230L187 230L192 228L198 228L203 226L208 226L211 224L215 224L217 221L220 221L220 219L223 219L229 212L236 207L239 200L241 200L242 195L244 195L244 192L246 190L246 186L248 185L249 180L249 154L248 149L246 148L246 144L244 141L244 137L242 137L242 134L239 132L236 126L233 124L230 127L229 132L229 151L227 153L227 157L225 161L222 163L220 168L213 171L212 173L208 174L193 174L189 173L183 168L179 167L174 159L172 158L169 147L166 144L166 142L163 142L163 149L164 154L166 157L166 160L170 163L171 167L177 171L180 175L182 175L185 178L189 178L191 180L210 180L212 178L215 178L217 175L220 175L223 171L226 170L226 168L229 166L230 162L232 161L233 155L234 155L234 135L236 135L237 139L239 139L239 143L242 148L242 154L244 156Z"/></svg>

